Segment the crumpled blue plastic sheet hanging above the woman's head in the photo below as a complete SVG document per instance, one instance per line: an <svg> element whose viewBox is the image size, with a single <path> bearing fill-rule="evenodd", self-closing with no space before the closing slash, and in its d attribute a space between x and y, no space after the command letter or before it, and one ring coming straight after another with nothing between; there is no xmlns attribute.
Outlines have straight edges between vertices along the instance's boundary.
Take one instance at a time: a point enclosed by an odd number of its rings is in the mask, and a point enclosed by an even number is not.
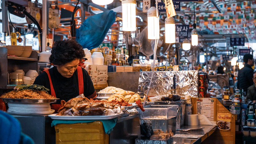
<svg viewBox="0 0 256 144"><path fill-rule="evenodd" d="M77 29L76 40L83 48L94 49L98 47L111 25L116 20L116 12L108 10L100 14L88 17L84 23Z"/></svg>

